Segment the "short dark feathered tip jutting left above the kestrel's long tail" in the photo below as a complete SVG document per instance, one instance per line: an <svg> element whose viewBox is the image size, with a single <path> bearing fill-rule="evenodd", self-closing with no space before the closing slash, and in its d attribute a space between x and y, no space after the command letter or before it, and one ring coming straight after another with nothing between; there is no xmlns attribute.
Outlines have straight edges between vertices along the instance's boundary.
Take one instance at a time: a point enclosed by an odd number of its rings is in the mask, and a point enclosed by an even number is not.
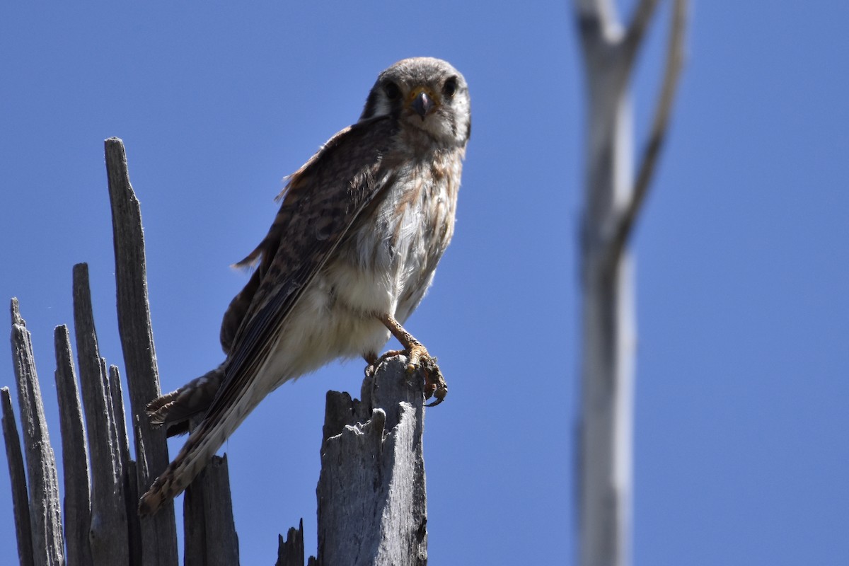
<svg viewBox="0 0 849 566"><path fill-rule="evenodd" d="M150 401L146 407L150 423L166 426L168 436L188 432L188 420L206 412L224 379L224 364L193 379L176 391Z"/></svg>

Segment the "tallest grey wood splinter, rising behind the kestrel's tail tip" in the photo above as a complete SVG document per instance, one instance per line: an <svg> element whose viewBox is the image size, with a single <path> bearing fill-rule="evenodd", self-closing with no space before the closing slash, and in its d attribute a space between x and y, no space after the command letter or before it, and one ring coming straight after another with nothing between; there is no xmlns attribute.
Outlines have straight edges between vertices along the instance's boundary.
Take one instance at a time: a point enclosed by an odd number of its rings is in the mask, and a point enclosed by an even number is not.
<svg viewBox="0 0 849 566"><path fill-rule="evenodd" d="M131 422L137 433L138 486L139 490L145 490L168 465L168 447L165 430L150 427L144 413L145 406L160 395L160 384L150 325L142 216L130 184L124 144L110 137L104 146L115 246L118 329L127 371ZM153 516L142 518L141 525L143 563L146 566L176 566L177 526L173 503L167 503Z"/></svg>

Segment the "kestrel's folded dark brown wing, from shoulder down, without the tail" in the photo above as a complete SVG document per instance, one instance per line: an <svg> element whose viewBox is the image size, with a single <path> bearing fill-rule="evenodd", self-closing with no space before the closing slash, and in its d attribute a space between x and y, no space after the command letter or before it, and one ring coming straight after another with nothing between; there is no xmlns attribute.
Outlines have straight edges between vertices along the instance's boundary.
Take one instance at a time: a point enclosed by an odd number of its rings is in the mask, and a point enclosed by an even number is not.
<svg viewBox="0 0 849 566"><path fill-rule="evenodd" d="M291 177L268 235L239 262L260 265L242 292L250 294L250 304L242 307L226 376L205 421L214 423L245 390L303 289L357 216L391 185L384 155L395 133L396 121L389 117L357 123L332 137Z"/></svg>

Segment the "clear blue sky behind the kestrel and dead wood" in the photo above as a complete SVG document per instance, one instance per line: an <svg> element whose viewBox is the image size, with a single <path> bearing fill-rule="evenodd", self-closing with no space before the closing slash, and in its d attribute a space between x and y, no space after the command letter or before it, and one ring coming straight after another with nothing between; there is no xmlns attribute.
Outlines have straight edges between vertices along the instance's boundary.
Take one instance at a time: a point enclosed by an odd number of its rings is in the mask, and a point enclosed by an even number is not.
<svg viewBox="0 0 849 566"><path fill-rule="evenodd" d="M584 91L571 10L314 4L0 8L0 300L19 297L33 333L54 450L53 327L72 322L77 262L101 353L122 367L104 138L127 144L174 389L221 361L221 316L246 280L228 266L266 232L282 177L357 119L380 70L432 55L469 81L475 127L453 244L408 322L451 389L425 422L430 559L572 563ZM849 563L849 5L782 6L696 2L690 20L633 242L636 564ZM655 24L638 133L663 41ZM228 441L242 563L273 563L301 517L314 552L324 392L357 395L362 366L286 384ZM0 385L14 385L6 348ZM14 540L5 473L0 540Z"/></svg>

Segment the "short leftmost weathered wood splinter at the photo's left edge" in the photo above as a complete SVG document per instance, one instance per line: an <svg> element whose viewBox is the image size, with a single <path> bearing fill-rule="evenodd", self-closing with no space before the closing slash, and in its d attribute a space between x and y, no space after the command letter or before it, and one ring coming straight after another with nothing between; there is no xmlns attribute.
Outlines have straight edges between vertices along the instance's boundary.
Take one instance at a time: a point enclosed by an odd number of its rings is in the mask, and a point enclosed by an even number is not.
<svg viewBox="0 0 849 566"><path fill-rule="evenodd" d="M20 452L18 427L14 423L12 398L8 387L0 389L3 398L3 439L6 443L6 461L8 477L12 484L12 513L14 514L14 535L18 540L18 560L20 566L35 566L32 555L32 527L30 524L30 499L26 492L26 470L24 457Z"/></svg>

